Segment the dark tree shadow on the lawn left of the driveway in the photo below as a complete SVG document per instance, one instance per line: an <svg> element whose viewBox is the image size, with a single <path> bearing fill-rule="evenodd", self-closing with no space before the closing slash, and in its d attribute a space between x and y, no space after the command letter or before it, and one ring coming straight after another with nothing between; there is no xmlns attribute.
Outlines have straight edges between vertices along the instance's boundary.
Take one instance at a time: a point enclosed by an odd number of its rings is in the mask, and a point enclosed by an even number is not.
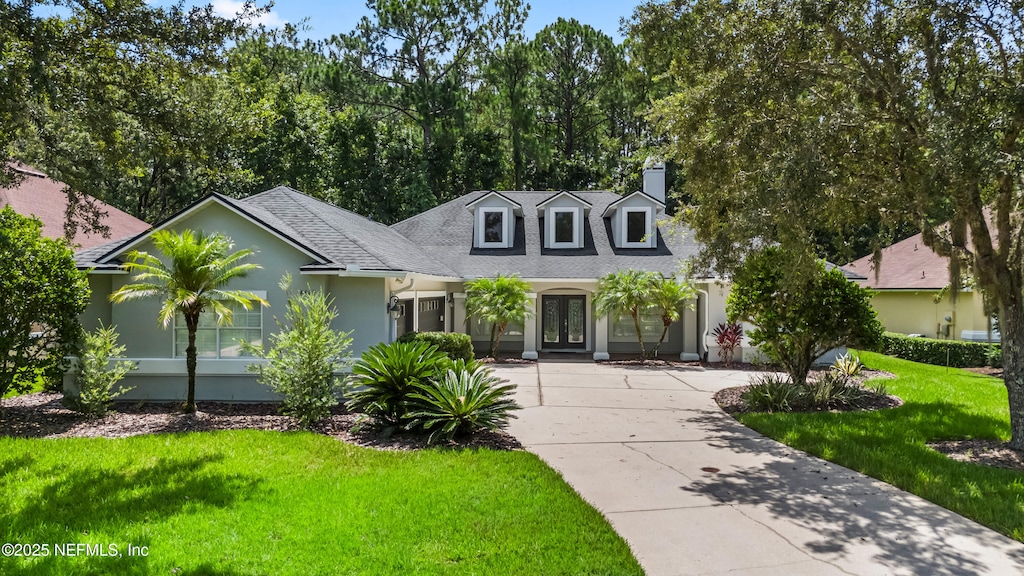
<svg viewBox="0 0 1024 576"><path fill-rule="evenodd" d="M148 525L179 513L210 506L228 507L258 496L259 483L213 466L219 455L159 458L141 467L39 469L33 490L20 508L8 508L0 518L0 541L22 543L113 543L123 558L43 559L0 558L0 574L146 574L146 557L127 556L127 545L148 545ZM111 541L99 535L112 535ZM115 536L124 535L124 536ZM121 542L118 538L137 541ZM74 568L72 568L74 567ZM188 574L189 572L179 572ZM201 567L193 574L232 574Z"/></svg>

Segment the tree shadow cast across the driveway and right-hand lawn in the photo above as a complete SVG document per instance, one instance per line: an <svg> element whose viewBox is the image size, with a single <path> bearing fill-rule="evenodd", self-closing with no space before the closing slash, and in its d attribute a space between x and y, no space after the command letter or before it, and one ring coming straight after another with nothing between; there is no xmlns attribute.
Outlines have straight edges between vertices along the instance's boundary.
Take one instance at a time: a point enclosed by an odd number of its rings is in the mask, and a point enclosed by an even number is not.
<svg viewBox="0 0 1024 576"><path fill-rule="evenodd" d="M1013 502L1024 497L1020 483L1024 475L979 470L925 446L943 431L947 436L998 438L1006 430L1006 422L999 419L948 403L908 404L879 412L746 414L742 418L756 429L785 438L793 447L827 453L830 460L904 485L901 487L941 505L953 509L974 505L975 520L1006 534L1024 529L1024 518L1013 511L1006 513L1007 508L1016 509ZM772 458L764 465L698 478L682 489L725 504L754 505L753 515L765 510L803 527L814 536L805 541L791 539L808 552L841 560L867 551L874 562L895 571L944 576L992 574L993 568L982 557L982 550L989 550L992 558L1011 559L1020 565L1018 570L1024 570L1024 547L993 538L981 526L965 522L952 511L922 505L901 490L841 465L808 459L790 446L753 435L721 413L709 411L691 421L716 433L712 446ZM1013 488L1015 482L1017 487ZM956 490L967 485L975 487L974 494ZM979 497L979 493L984 496ZM946 501L939 497L948 494L952 498ZM996 501L988 507L978 506L978 500L986 497ZM986 516L991 509L998 515L1000 508L1002 516Z"/></svg>

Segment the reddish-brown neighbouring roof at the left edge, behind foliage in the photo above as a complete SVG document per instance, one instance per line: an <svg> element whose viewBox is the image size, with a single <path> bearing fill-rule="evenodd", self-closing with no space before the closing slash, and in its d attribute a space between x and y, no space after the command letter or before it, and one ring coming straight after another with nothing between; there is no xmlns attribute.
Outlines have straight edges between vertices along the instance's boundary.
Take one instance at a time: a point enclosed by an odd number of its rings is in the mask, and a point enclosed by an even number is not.
<svg viewBox="0 0 1024 576"><path fill-rule="evenodd" d="M68 217L65 184L29 166L15 164L11 168L20 173L22 178L12 188L0 188L0 207L10 206L18 214L39 218L43 222L43 236L62 239ZM108 244L112 239L133 236L150 229L148 223L91 196L85 196L84 200L103 214L100 222L110 230L110 234L104 237L99 233L86 234L78 230L72 242L80 248Z"/></svg>

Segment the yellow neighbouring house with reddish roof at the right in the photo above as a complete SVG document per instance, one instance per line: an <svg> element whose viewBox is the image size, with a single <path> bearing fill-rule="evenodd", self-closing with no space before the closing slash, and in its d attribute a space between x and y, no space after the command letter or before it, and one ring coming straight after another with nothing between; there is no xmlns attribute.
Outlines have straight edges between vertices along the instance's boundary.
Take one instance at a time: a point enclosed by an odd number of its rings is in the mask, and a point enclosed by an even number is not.
<svg viewBox="0 0 1024 576"><path fill-rule="evenodd" d="M920 234L882 250L878 269L867 255L845 269L876 291L871 304L890 332L931 338L984 337L989 328L981 291L965 289L953 301L947 288L949 260L925 246Z"/></svg>

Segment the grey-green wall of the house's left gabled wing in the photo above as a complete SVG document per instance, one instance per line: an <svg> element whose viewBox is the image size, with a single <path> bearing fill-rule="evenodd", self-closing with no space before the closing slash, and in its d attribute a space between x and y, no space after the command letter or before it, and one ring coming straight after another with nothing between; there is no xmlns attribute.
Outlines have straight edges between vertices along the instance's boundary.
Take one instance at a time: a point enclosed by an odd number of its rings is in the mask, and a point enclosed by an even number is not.
<svg viewBox="0 0 1024 576"><path fill-rule="evenodd" d="M270 344L270 334L278 329L274 318L285 318L287 294L279 284L286 273L292 275L293 289L302 290L308 286L324 289L334 297L339 315L333 327L353 332L350 348L353 357L377 342L388 340L385 279L301 275L299 268L310 262L308 255L218 204L211 203L172 227L175 231L185 229L221 233L231 238L234 249L251 248L256 251L250 261L258 263L262 266L261 270L232 282L228 288L266 292L270 305L262 310L265 347ZM152 241L141 243L138 249L155 251ZM131 275L91 275L89 285L92 295L81 317L83 325L92 329L98 325L99 320L108 325L116 325L120 342L126 346L125 357L139 360L139 370L130 373L123 381L123 385L133 386L134 389L125 394L122 399L184 400L187 386L185 361L173 356L173 330L170 327L164 329L158 322L161 301L146 299L121 304L111 304L109 301L111 292L131 283ZM197 400L280 400L272 390L256 381L255 374L246 371L246 366L252 362L245 358L200 358ZM77 392L74 374L66 376L65 385L70 394Z"/></svg>

